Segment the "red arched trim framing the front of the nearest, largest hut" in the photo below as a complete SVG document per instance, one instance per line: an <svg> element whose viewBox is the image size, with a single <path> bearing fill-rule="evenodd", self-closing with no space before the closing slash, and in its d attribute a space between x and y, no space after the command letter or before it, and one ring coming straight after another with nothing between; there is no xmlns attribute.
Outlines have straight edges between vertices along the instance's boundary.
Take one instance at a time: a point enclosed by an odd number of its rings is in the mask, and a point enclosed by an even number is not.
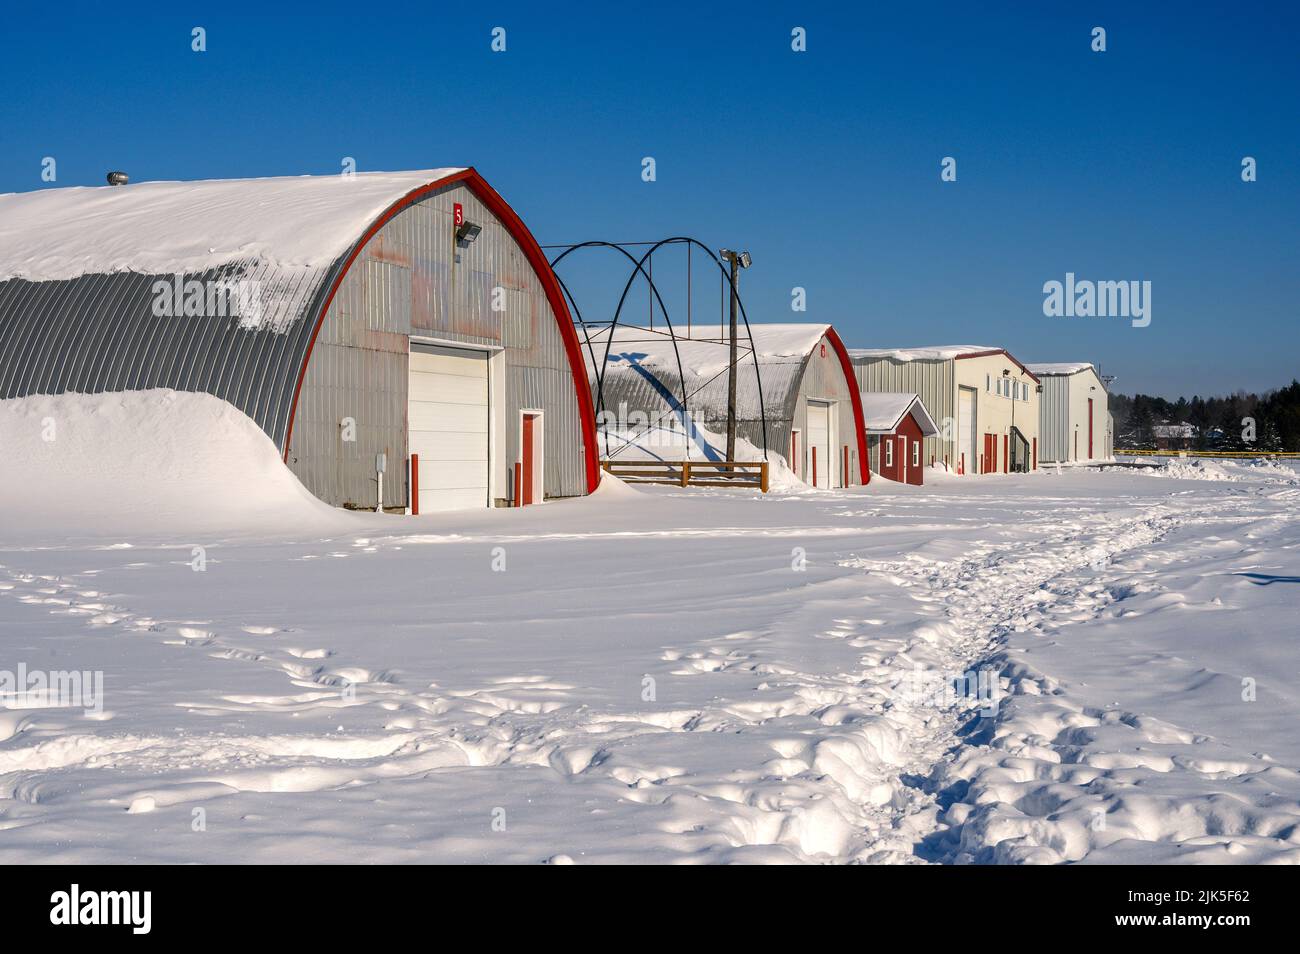
<svg viewBox="0 0 1300 954"><path fill-rule="evenodd" d="M537 244L537 239L533 238L533 234L528 230L528 226L524 225L524 221L519 217L515 209L512 209L506 200L500 198L497 190L489 186L486 179L484 179L484 177L480 175L472 166L407 192L404 196L393 203L384 212L384 214L376 218L370 227L361 235L360 240L352 246L352 251L348 252L347 260L343 263L343 268L339 269L338 276L334 277L333 285L330 285L329 294L325 296L325 303L321 305L320 313L316 316L316 326L312 329L311 341L307 342L307 354L303 355L303 367L298 372L298 383L294 387L294 402L289 407L289 426L285 429L285 463L289 463L289 446L294 437L294 416L298 413L298 398L303 391L303 381L307 377L307 367L311 364L312 351L316 347L316 337L320 334L321 325L325 324L325 316L329 313L329 307L334 302L334 295L343 283L343 278L347 277L348 269L352 268L352 263L356 260L356 256L361 253L361 250L365 248L372 238L374 238L374 234L398 212L417 203L430 192L456 182L464 182L465 187L473 192L480 201L482 201L482 204L497 216L497 218L500 220L511 238L514 238L515 242L519 243L519 247L524 251L524 255L528 257L528 264L533 266L533 272L537 274L538 281L542 283L542 289L546 291L546 300L550 303L551 312L554 312L555 320L560 326L560 338L564 341L564 354L568 356L569 372L573 374L573 391L577 396L577 413L582 420L582 450L585 451L586 458L586 493L590 494L595 490L597 483L601 481L601 465L597 459L595 406L592 403L592 391L586 383L586 365L582 363L582 351L578 346L577 330L573 328L573 318L569 316L568 305L564 303L564 294L560 291L559 282L555 281L555 273L551 272L550 263L546 261L546 255Z"/></svg>

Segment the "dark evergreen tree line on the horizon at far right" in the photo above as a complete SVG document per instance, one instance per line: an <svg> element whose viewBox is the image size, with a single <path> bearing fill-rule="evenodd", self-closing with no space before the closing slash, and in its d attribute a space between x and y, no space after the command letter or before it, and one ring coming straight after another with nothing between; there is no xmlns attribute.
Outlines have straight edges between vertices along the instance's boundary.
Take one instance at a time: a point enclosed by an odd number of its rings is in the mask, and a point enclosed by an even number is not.
<svg viewBox="0 0 1300 954"><path fill-rule="evenodd" d="M1197 451L1300 451L1300 381L1265 394L1167 400L1149 394L1110 395L1115 447L1170 445L1169 425L1191 425L1176 446ZM1176 441L1176 438L1174 438Z"/></svg>

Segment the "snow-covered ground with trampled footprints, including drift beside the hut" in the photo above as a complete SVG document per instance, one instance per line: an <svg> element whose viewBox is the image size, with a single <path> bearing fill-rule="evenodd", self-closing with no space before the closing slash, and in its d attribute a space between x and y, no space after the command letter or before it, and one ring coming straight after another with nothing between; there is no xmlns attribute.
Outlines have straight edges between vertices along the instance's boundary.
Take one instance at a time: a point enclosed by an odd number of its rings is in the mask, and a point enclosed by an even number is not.
<svg viewBox="0 0 1300 954"><path fill-rule="evenodd" d="M0 703L6 863L1300 860L1291 467L398 517L200 395L0 439L0 673L103 673Z"/></svg>

